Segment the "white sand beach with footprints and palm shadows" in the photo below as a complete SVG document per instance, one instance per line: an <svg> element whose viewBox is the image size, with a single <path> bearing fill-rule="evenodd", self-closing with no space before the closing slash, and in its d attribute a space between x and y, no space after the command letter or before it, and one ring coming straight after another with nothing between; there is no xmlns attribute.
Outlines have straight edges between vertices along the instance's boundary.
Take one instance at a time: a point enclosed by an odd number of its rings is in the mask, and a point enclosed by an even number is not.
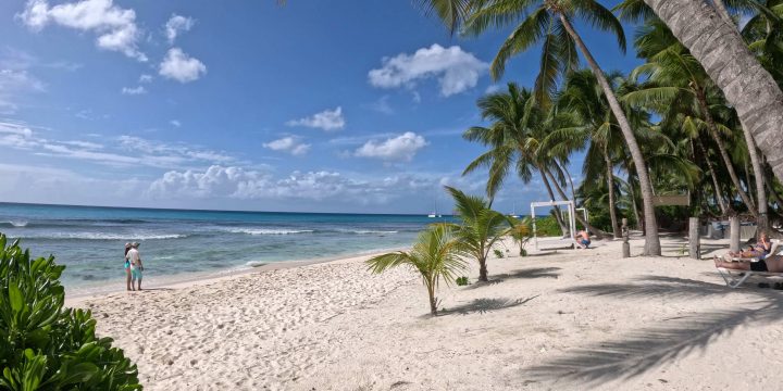
<svg viewBox="0 0 783 391"><path fill-rule="evenodd" d="M684 239L663 257L596 244L512 248L490 283L442 286L437 317L417 274L371 275L368 256L66 304L92 310L148 390L780 388L783 291L728 289ZM726 248L703 240L703 256Z"/></svg>

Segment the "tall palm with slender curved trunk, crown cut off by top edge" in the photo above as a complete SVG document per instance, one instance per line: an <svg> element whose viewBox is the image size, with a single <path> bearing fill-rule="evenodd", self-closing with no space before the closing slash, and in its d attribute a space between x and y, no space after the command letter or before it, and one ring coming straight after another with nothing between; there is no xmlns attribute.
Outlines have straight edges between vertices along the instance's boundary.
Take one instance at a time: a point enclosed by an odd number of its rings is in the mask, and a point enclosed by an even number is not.
<svg viewBox="0 0 783 391"><path fill-rule="evenodd" d="M522 20L500 47L492 63L490 73L494 78L500 77L506 62L512 55L540 43L542 68L536 79L535 91L542 104L546 104L548 100L547 92L556 89L559 75L576 68L579 49L607 96L609 106L618 119L620 130L637 167L647 216L644 254L660 255L652 187L642 151L609 81L572 24L572 20L576 16L599 29L614 34L620 48L624 51L625 36L622 25L611 11L595 0L426 0L421 2L428 12L436 13L452 30L464 24L464 31L471 35L478 35L490 26L502 28Z"/></svg>

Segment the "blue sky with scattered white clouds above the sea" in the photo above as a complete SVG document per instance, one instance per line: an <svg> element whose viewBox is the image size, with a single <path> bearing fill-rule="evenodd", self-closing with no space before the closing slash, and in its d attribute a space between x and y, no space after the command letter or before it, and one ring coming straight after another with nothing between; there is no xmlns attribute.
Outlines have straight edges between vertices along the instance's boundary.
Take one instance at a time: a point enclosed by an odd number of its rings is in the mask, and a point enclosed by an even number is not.
<svg viewBox="0 0 783 391"><path fill-rule="evenodd" d="M483 150L460 138L482 124L476 99L531 86L539 53L493 81L508 31L451 37L412 3L3 1L0 201L449 210L442 185L484 186L460 175ZM605 68L638 64L577 28ZM545 194L511 180L496 206Z"/></svg>

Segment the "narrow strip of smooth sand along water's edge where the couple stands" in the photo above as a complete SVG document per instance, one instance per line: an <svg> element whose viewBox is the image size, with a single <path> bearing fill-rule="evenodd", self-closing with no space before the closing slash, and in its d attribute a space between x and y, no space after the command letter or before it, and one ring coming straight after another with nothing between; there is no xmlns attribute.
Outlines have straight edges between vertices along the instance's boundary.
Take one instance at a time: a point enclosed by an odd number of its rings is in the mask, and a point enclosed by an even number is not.
<svg viewBox="0 0 783 391"><path fill-rule="evenodd" d="M252 274L260 274L265 272L303 267L309 265L327 264L327 263L339 263L339 262L351 262L357 258L372 257L386 252L405 251L409 248L391 248L391 249L378 249L362 251L360 253L335 255L328 257L319 258L306 258L306 260L289 260L289 261L277 261L268 262L259 266L239 266L231 267L214 272L194 272L183 273L176 275L165 275L154 278L152 281L142 282L144 291L157 291L157 290L179 290L187 287L203 286L212 282L220 282L227 279L238 278ZM144 280L142 280L144 281ZM114 297L117 294L135 294L136 291L127 291L123 289L125 286L124 279L107 280L102 283L92 286L90 288L65 288L65 306L74 306L85 301L104 299Z"/></svg>

